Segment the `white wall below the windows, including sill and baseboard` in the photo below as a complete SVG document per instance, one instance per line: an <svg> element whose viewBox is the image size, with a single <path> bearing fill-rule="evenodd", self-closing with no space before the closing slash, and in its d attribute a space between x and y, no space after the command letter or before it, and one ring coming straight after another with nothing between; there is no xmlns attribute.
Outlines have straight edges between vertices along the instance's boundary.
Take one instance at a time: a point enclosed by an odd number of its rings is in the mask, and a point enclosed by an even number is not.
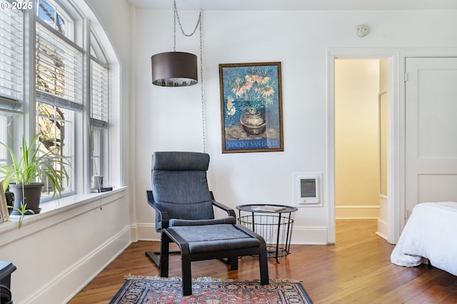
<svg viewBox="0 0 457 304"><path fill-rule="evenodd" d="M0 260L17 268L11 293L18 304L66 303L131 243L127 188L40 207L20 230L17 217L0 226Z"/></svg>

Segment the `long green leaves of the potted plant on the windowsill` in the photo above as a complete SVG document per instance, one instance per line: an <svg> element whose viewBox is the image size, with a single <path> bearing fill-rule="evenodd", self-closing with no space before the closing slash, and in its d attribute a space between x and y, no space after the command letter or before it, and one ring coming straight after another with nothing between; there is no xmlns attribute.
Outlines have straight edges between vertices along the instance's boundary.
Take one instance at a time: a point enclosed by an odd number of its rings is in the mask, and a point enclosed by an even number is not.
<svg viewBox="0 0 457 304"><path fill-rule="evenodd" d="M69 166L69 163L61 156L49 151L41 151L39 149L41 144L35 148L34 143L38 138L39 134L36 134L31 139L30 144L26 143L24 137L22 138L20 158L16 158L10 146L0 142L2 146L6 147L9 156L11 156L11 164L0 166L0 174L4 178L3 186L6 190L12 181L18 185L30 185L36 183L42 176L46 176L52 185L52 197L54 198L56 193L60 195L64 178L68 183L69 173L66 171L66 166Z"/></svg>

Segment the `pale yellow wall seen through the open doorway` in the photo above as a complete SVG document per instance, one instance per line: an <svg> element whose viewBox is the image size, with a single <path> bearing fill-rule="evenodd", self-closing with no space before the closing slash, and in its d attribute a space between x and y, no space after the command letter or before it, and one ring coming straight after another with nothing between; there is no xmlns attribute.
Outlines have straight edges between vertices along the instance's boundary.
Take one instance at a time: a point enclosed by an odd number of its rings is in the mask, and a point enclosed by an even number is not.
<svg viewBox="0 0 457 304"><path fill-rule="evenodd" d="M385 155L381 133L386 133L381 130L385 123L380 123L380 96L386 94L384 63L381 59L335 59L337 219L380 218L381 155Z"/></svg>

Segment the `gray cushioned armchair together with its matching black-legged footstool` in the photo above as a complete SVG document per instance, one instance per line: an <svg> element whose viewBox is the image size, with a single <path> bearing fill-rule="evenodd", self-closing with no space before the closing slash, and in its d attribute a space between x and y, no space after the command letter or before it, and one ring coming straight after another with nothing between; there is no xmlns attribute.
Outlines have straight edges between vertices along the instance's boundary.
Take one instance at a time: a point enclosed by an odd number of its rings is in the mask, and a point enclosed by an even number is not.
<svg viewBox="0 0 457 304"><path fill-rule="evenodd" d="M169 243L179 246L183 293L190 295L191 261L226 258L238 269L238 257L258 255L261 284L268 284L266 244L263 238L236 224L233 209L214 200L206 171L209 154L196 152L156 152L152 156L152 191L146 191L149 205L156 211L156 231L161 233L159 253L146 255L159 266L161 276L169 272ZM214 217L214 207L226 211Z"/></svg>

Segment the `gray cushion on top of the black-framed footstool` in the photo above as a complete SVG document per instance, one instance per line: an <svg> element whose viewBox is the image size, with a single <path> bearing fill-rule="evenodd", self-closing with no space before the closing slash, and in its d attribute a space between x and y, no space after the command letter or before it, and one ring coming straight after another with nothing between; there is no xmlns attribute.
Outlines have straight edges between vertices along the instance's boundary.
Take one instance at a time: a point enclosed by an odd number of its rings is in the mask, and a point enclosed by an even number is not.
<svg viewBox="0 0 457 304"><path fill-rule="evenodd" d="M211 226L178 226L167 228L174 230L189 243L190 253L205 253L239 248L255 248L260 245L253 238L231 224Z"/></svg>

